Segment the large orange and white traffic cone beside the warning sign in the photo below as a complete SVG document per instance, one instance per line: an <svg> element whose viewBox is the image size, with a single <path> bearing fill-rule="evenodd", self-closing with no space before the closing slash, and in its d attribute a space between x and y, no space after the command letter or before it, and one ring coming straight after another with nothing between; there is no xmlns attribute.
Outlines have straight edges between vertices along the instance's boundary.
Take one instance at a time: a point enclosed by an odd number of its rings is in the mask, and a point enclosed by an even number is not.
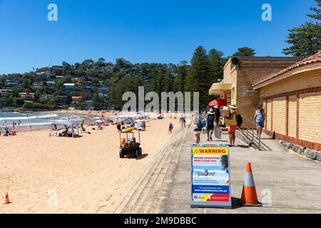
<svg viewBox="0 0 321 228"><path fill-rule="evenodd" d="M258 202L258 195L256 194L255 190L254 178L250 162L248 162L248 165L246 165L243 192L239 202L242 206L245 207L262 207L262 204Z"/></svg>

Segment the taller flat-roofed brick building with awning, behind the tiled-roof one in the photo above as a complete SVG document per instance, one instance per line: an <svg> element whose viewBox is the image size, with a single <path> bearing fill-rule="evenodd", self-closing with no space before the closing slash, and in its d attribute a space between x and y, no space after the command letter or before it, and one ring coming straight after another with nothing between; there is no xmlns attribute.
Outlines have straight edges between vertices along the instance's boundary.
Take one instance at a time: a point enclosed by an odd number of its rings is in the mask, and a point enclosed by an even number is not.
<svg viewBox="0 0 321 228"><path fill-rule="evenodd" d="M260 103L258 90L252 83L259 78L281 71L302 58L289 57L231 57L224 67L224 79L214 83L210 95L220 95L228 104L238 105L244 117L245 125L253 127L255 109Z"/></svg>

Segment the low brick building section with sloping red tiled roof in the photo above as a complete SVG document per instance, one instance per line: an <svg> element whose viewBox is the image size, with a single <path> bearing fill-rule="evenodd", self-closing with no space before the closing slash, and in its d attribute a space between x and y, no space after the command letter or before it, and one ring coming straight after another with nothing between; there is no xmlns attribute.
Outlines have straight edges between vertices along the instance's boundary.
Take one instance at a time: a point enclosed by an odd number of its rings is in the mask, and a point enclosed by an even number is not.
<svg viewBox="0 0 321 228"><path fill-rule="evenodd" d="M321 151L321 51L252 86L265 107L266 133Z"/></svg>

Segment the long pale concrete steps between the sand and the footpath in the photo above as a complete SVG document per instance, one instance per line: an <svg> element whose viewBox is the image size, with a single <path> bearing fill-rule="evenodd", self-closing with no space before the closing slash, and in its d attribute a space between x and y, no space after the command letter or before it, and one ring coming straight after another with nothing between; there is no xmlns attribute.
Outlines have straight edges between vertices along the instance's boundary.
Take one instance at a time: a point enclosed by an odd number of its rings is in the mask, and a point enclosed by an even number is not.
<svg viewBox="0 0 321 228"><path fill-rule="evenodd" d="M177 166L178 153L175 151L182 146L184 133L185 130L179 130L173 134L170 142L148 161L138 180L128 189L123 201L113 210L113 213L149 213L155 208L156 202L161 200L158 193L163 183L170 182L168 170L175 170Z"/></svg>

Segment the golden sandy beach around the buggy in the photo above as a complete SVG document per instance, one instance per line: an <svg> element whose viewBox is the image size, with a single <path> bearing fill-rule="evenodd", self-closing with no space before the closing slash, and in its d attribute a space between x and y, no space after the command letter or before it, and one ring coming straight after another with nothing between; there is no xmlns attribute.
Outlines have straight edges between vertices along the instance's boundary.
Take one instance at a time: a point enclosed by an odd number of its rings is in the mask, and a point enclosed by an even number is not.
<svg viewBox="0 0 321 228"><path fill-rule="evenodd" d="M144 162L170 139L170 122L174 130L180 128L178 120L169 118L148 122L138 159L119 158L114 125L88 128L92 134L81 138L49 137L49 130L0 137L1 202L7 191L12 202L0 204L0 213L108 212Z"/></svg>

